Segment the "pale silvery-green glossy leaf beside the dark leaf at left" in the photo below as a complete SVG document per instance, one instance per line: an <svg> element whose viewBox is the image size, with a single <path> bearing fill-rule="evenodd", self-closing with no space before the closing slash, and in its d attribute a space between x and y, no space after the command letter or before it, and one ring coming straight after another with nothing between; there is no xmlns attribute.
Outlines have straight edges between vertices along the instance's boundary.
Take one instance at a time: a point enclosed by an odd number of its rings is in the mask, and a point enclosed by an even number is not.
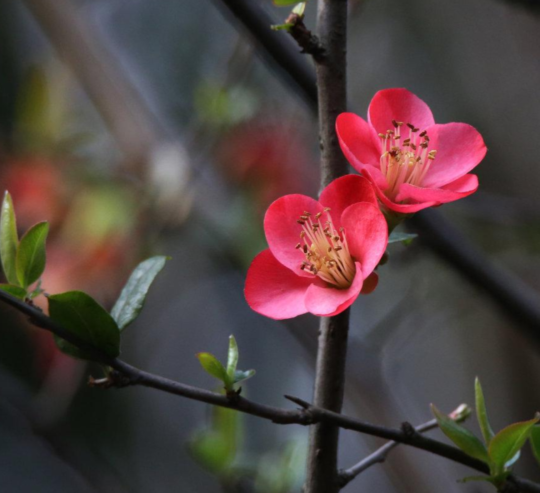
<svg viewBox="0 0 540 493"><path fill-rule="evenodd" d="M112 318L118 324L120 331L138 317L143 309L150 285L170 258L163 255L150 257L133 270L111 310Z"/></svg>

